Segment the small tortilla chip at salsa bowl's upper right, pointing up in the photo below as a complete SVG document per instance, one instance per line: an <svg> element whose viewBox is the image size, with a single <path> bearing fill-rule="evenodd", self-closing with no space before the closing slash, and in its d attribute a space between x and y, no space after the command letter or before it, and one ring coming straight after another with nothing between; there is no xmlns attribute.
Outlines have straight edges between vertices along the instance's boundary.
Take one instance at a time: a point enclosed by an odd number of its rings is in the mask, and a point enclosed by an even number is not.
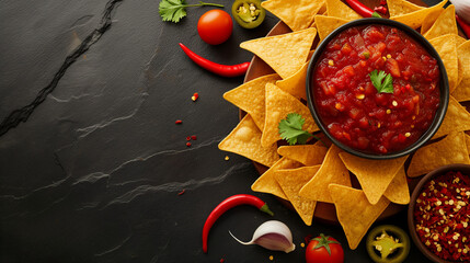
<svg viewBox="0 0 470 263"><path fill-rule="evenodd" d="M423 35L427 39L446 35L446 34L458 34L457 22L456 22L456 8L450 4L440 13L433 26Z"/></svg>

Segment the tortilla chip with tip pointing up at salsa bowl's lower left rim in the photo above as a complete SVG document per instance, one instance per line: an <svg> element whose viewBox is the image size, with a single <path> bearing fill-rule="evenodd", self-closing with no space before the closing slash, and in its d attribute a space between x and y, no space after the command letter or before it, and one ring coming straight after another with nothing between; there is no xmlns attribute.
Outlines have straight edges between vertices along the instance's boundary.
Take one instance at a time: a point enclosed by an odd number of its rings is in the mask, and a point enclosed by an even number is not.
<svg viewBox="0 0 470 263"><path fill-rule="evenodd" d="M312 201L333 203L330 192L325 187L335 183L351 186L349 172L341 161L341 149L331 145L324 157L323 163L317 174L300 190L299 195Z"/></svg>

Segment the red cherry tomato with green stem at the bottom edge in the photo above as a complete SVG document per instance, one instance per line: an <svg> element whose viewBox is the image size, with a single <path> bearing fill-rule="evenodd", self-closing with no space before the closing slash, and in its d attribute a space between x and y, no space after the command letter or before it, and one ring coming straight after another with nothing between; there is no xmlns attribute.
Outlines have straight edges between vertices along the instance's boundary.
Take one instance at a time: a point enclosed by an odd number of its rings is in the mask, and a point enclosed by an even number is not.
<svg viewBox="0 0 470 263"><path fill-rule="evenodd" d="M343 263L344 251L334 238L320 233L320 237L312 239L307 245L306 260L307 263Z"/></svg>

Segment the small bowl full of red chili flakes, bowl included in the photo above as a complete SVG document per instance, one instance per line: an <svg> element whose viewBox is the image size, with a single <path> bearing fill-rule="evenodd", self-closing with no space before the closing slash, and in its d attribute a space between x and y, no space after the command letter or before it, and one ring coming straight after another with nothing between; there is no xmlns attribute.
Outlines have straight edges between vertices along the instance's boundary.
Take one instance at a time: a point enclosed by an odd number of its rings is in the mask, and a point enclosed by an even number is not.
<svg viewBox="0 0 470 263"><path fill-rule="evenodd" d="M408 209L413 242L433 262L470 262L470 165L449 164L421 179Z"/></svg>

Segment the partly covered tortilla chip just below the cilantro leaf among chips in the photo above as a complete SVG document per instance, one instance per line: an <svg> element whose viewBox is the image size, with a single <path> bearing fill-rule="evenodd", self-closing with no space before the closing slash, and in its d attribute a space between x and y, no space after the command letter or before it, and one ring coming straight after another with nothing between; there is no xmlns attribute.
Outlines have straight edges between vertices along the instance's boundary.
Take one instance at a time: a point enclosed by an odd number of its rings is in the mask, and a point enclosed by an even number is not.
<svg viewBox="0 0 470 263"><path fill-rule="evenodd" d="M307 167L321 164L326 151L326 147L320 145L282 146L277 149L277 153L280 156L301 162Z"/></svg>

